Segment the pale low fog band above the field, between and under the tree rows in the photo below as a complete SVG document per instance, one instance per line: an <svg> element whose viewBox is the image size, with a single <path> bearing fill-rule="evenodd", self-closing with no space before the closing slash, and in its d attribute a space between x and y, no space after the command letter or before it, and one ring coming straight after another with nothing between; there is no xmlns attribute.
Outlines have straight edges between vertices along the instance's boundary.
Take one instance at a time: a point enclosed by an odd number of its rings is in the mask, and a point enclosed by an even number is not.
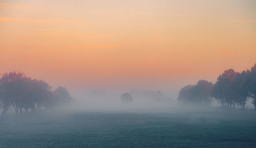
<svg viewBox="0 0 256 148"><path fill-rule="evenodd" d="M132 100L121 100L120 92L90 91L72 94L74 97L66 105L55 106L52 109L41 108L40 112L65 114L74 112L102 112L102 113L178 113L178 112L209 112L221 109L220 104L213 100L209 105L184 104L177 101L177 94L164 95L160 91L130 91ZM235 109L240 109L236 106ZM246 109L252 110L253 105L249 99ZM33 112L28 110L28 114ZM24 113L24 112L23 112ZM35 112L33 112L35 113ZM8 115L15 114L12 107ZM20 114L18 112L18 114Z"/></svg>

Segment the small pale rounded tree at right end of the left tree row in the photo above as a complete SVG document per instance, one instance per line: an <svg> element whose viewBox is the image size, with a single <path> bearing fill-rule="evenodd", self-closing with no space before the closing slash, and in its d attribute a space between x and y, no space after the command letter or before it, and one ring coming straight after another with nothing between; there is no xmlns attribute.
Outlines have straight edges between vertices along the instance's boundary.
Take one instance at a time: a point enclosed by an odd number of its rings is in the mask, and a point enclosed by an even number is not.
<svg viewBox="0 0 256 148"><path fill-rule="evenodd" d="M65 87L59 86L52 93L53 101L55 105L65 105L71 102L72 97Z"/></svg>

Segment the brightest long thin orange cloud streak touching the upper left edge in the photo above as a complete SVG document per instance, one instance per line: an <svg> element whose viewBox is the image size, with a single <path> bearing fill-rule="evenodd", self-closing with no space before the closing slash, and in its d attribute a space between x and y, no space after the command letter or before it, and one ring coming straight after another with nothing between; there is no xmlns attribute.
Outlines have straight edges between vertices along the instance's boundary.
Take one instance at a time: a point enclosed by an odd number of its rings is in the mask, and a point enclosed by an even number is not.
<svg viewBox="0 0 256 148"><path fill-rule="evenodd" d="M88 21L73 21L61 19L19 19L19 18L0 18L0 22L31 22L31 23L90 23Z"/></svg>

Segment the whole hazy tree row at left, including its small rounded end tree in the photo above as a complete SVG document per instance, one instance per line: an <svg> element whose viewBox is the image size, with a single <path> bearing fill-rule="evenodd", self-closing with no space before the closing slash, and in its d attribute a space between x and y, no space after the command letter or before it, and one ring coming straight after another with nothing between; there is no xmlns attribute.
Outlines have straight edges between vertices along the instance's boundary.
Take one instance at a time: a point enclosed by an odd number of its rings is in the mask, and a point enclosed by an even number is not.
<svg viewBox="0 0 256 148"><path fill-rule="evenodd" d="M52 86L43 80L32 79L20 72L0 75L0 108L2 117L14 109L20 114L28 110L52 109L57 105L67 104L72 97L65 87L52 91Z"/></svg>

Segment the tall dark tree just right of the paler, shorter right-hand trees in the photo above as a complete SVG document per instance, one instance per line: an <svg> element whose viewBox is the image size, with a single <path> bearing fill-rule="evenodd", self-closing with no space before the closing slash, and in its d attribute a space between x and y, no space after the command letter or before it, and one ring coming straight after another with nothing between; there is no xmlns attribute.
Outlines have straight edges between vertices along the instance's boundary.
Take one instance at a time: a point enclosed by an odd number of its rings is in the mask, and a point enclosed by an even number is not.
<svg viewBox="0 0 256 148"><path fill-rule="evenodd" d="M233 69L225 70L218 79L217 82L214 84L212 89L212 97L214 97L218 102L224 106L227 103L228 107L231 108L231 105L235 105L236 94L234 94L234 81L236 80L237 72Z"/></svg>

